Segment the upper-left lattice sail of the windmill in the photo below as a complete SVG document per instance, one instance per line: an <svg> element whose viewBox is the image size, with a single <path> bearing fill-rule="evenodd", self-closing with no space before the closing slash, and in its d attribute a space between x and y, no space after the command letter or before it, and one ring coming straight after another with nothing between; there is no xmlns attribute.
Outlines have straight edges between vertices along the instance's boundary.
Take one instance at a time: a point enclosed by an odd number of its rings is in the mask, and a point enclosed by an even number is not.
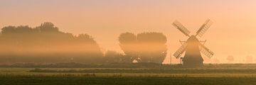
<svg viewBox="0 0 256 85"><path fill-rule="evenodd" d="M175 26L176 28L178 28L178 30L181 30L181 32L183 34L185 34L186 36L190 36L189 33L191 33L191 32L187 28L182 26L181 23L179 23L178 21L174 21L174 23L172 25Z"/></svg>

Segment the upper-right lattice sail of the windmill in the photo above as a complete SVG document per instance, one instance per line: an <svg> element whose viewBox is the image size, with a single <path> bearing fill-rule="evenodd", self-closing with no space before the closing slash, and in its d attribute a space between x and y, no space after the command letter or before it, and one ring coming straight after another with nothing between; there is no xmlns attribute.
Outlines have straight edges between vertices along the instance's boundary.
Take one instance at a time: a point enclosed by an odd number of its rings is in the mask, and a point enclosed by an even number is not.
<svg viewBox="0 0 256 85"><path fill-rule="evenodd" d="M199 37L202 37L204 33L206 33L206 30L208 30L208 28L210 28L210 26L212 25L212 21L210 21L210 19L208 19L206 21L206 23L203 23L203 26L201 26L201 28L199 28L199 30L196 32L196 35L198 35Z"/></svg>

